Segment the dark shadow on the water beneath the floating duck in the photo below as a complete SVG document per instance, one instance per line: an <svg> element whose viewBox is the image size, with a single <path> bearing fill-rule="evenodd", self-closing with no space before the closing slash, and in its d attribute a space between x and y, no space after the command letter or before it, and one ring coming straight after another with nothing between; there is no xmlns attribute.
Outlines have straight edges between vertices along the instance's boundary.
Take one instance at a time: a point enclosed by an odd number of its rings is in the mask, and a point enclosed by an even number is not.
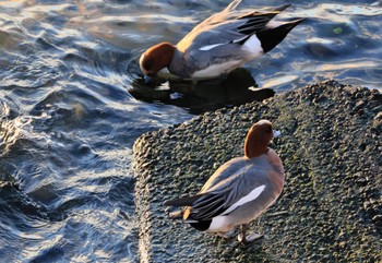
<svg viewBox="0 0 382 263"><path fill-rule="evenodd" d="M274 96L271 88L258 88L249 71L237 69L226 79L204 81L183 81L153 79L145 83L143 79L133 82L130 94L146 103L160 101L187 108L190 113L199 115L225 106L238 106L250 101L262 101Z"/></svg>

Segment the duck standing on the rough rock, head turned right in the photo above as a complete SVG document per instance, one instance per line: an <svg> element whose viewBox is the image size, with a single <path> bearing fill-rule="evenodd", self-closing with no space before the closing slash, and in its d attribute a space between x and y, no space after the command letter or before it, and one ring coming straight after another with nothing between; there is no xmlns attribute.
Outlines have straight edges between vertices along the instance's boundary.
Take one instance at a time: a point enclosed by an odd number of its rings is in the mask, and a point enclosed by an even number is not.
<svg viewBox="0 0 382 263"><path fill-rule="evenodd" d="M283 162L268 145L279 131L272 122L260 120L247 133L244 156L222 165L199 193L164 202L166 206L183 206L170 213L193 228L230 238L238 227L238 240L251 242L263 235L247 236L249 223L262 215L280 195L285 184Z"/></svg>

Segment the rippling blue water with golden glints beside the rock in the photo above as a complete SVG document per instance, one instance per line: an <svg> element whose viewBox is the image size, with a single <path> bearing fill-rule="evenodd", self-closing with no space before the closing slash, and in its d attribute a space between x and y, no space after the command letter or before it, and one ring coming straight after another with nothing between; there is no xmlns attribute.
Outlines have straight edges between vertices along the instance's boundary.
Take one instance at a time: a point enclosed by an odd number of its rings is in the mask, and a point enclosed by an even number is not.
<svg viewBox="0 0 382 263"><path fill-rule="evenodd" d="M134 140L254 98L235 81L146 86L136 59L229 1L58 2L0 1L0 261L138 262ZM381 1L296 2L283 17L309 19L239 73L276 93L381 88Z"/></svg>

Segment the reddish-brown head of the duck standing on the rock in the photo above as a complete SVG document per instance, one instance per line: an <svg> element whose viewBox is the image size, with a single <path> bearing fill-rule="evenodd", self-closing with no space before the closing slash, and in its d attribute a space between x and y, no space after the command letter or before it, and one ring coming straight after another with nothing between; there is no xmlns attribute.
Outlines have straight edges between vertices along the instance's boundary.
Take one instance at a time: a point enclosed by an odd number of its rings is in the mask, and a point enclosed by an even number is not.
<svg viewBox="0 0 382 263"><path fill-rule="evenodd" d="M244 142L244 155L248 158L256 157L268 151L273 136L279 135L279 131L273 132L272 122L260 120L249 130Z"/></svg>

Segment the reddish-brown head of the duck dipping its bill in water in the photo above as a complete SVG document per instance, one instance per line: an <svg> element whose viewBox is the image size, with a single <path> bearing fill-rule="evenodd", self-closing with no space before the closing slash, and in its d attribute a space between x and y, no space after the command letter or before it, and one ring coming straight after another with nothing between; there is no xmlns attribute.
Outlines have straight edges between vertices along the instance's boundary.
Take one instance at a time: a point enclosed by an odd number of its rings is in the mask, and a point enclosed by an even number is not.
<svg viewBox="0 0 382 263"><path fill-rule="evenodd" d="M148 48L140 58L140 68L145 75L155 75L168 68L172 61L176 47L170 43L160 43Z"/></svg>

